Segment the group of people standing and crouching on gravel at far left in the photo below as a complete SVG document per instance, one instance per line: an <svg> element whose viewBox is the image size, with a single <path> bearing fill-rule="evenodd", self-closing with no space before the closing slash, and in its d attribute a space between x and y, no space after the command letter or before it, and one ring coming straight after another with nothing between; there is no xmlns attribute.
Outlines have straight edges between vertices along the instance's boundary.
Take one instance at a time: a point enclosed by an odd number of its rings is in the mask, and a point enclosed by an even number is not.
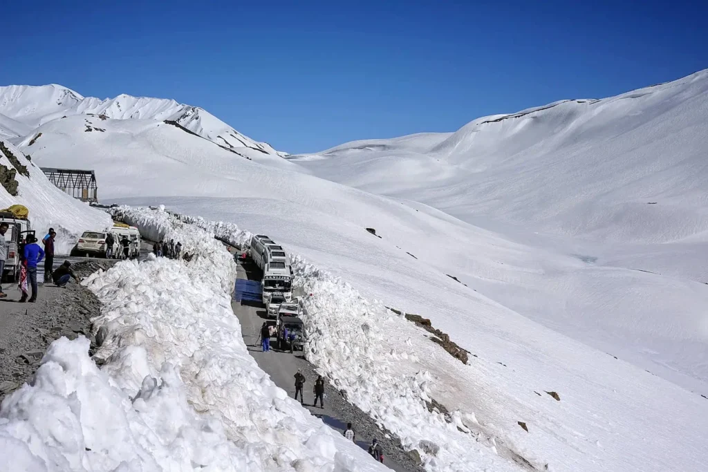
<svg viewBox="0 0 708 472"><path fill-rule="evenodd" d="M4 270L5 260L7 258L7 241L5 240L5 234L9 229L9 225L6 222L0 223L0 274ZM22 296L19 299L21 303L25 301L30 301L34 303L37 301L38 295L38 284L37 284L37 265L44 260L45 262L45 276L44 282L53 281L57 287L64 287L69 279L74 277L78 280L76 275L71 269L72 263L68 260L64 261L57 270L54 270L54 243L57 237L54 228L50 228L47 234L42 238L42 246L38 244L38 239L34 234L27 234L18 243L18 255L20 257L20 277L18 287L22 292ZM29 289L32 289L31 295L29 294ZM6 298L7 294L2 291L0 285L0 298Z"/></svg>

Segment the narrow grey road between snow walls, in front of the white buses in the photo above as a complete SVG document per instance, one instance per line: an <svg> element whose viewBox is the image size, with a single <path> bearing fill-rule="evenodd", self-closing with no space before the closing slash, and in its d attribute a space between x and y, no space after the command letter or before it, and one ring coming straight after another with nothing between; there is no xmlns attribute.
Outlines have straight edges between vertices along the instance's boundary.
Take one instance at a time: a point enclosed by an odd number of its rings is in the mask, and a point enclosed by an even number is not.
<svg viewBox="0 0 708 472"><path fill-rule="evenodd" d="M246 263L245 266L239 261L238 278L246 280L260 280L261 272L253 263ZM302 352L296 351L295 354L280 352L273 350L263 352L260 343L260 331L263 321L267 319L265 316L265 306L252 301L232 301L232 308L236 317L241 323L241 332L244 336L246 346L251 352L253 359L256 359L258 366L270 375L276 385L287 391L290 396L295 396L295 379L294 375L297 369L302 369L302 374L307 378L307 382L303 388L305 403L304 408L307 408L312 415L321 418L322 421L338 434L343 434L346 429L347 422L353 422L357 436L356 442L367 449L372 437L376 437L384 446L384 465L392 468L396 472L422 471L409 456L399 447L399 450L387 445L395 441L395 439L387 438L384 431L380 430L375 423L358 408L350 405L338 391L334 391L329 384L325 389L324 409L319 406L312 406L314 401L314 393L312 386L317 378L312 364L307 362L302 355ZM273 338L275 340L275 338ZM374 436L375 435L375 436ZM373 460L373 459L372 459Z"/></svg>

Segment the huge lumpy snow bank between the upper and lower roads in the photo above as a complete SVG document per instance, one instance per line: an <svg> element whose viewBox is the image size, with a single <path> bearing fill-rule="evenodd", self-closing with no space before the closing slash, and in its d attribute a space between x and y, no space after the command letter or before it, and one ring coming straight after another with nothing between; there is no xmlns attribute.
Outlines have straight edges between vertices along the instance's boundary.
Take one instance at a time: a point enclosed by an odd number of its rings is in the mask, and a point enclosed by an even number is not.
<svg viewBox="0 0 708 472"><path fill-rule="evenodd" d="M104 305L104 367L84 338L52 343L2 405L0 470L383 470L258 368L231 309L236 265L212 234L121 210L195 258L124 261L84 281Z"/></svg>

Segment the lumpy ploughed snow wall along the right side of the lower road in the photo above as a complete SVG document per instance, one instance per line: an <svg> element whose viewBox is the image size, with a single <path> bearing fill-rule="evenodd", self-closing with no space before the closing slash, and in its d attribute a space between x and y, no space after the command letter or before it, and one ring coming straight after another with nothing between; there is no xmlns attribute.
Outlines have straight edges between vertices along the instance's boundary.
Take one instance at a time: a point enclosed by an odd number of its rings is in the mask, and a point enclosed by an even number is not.
<svg viewBox="0 0 708 472"><path fill-rule="evenodd" d="M183 221L234 246L243 247L251 238L236 224L201 217ZM379 301L370 303L348 282L301 256L290 258L294 287L308 294L303 298L305 356L349 401L396 434L406 450L418 451L429 471L469 471L473 465L518 470L497 455L493 441L479 436L474 414L457 410L445 418L428 410L433 377L428 372L404 372L399 362L416 362L416 354L390 347L379 328L409 328L408 321Z"/></svg>

